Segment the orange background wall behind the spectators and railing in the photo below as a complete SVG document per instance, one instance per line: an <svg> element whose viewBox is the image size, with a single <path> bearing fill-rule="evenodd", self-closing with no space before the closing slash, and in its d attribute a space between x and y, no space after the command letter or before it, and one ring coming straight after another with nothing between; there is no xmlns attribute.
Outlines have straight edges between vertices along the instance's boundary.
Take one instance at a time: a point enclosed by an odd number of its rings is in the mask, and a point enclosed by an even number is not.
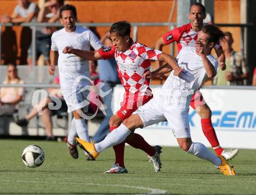
<svg viewBox="0 0 256 195"><path fill-rule="evenodd" d="M35 1L37 2L37 1ZM118 20L127 20L129 22L166 22L169 19L170 9L172 8L172 0L134 0L134 1L87 1L87 0L68 0L66 3L72 3L77 8L78 19L81 22L94 23L113 23ZM1 0L0 15L10 15L16 6L16 0ZM173 13L172 21L176 21L176 6ZM240 0L215 0L215 23L240 23ZM21 41L29 41L29 34L22 40L20 39L21 27L13 27L16 33L17 56L21 55ZM99 35L104 35L109 27L98 27ZM3 28L5 30L5 28ZM145 45L154 47L155 41L161 35L168 31L168 27L139 27L138 41ZM234 36L234 48L240 49L240 29L239 28L223 28L224 31L231 31ZM12 30L6 33L6 38L3 41L3 52L8 59L16 59L15 51L8 52L12 49L8 43L14 42ZM170 52L170 47L166 46L163 49L165 52ZM24 50L23 50L24 52ZM24 58L24 57L23 57ZM23 59L23 61L26 59ZM19 63L19 60L17 60Z"/></svg>

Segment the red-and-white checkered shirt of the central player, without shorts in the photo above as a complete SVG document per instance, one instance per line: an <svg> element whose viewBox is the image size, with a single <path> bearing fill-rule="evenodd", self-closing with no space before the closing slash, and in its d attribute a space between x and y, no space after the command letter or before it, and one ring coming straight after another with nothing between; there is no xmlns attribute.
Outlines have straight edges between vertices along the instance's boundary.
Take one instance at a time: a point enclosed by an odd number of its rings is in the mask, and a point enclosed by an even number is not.
<svg viewBox="0 0 256 195"><path fill-rule="evenodd" d="M148 89L151 91L148 86L150 80L142 76L150 69L150 60L158 60L161 51L132 41L130 49L125 52L118 52L115 46L98 50L98 52L104 59L115 57L118 76L125 87L126 95L137 93L143 95Z"/></svg>

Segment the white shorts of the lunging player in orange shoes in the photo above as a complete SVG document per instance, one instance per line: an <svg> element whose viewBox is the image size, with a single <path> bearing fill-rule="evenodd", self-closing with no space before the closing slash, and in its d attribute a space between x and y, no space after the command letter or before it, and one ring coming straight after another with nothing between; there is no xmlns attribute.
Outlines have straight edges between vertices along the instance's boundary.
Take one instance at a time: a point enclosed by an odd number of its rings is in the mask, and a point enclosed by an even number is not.
<svg viewBox="0 0 256 195"><path fill-rule="evenodd" d="M185 98L186 106L180 106L161 96L154 96L148 103L139 107L136 114L140 115L144 127L167 120L176 138L191 138L188 106L191 97L183 97Z"/></svg>

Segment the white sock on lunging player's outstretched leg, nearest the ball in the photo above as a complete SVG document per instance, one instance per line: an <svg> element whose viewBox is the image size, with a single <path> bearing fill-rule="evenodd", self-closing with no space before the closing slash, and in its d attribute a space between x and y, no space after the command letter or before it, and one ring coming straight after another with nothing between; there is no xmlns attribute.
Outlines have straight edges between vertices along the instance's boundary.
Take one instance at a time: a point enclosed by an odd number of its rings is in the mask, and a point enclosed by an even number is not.
<svg viewBox="0 0 256 195"><path fill-rule="evenodd" d="M108 147L118 145L119 143L122 143L130 133L131 131L125 125L121 124L118 128L111 131L104 140L95 143L95 150L101 153Z"/></svg>

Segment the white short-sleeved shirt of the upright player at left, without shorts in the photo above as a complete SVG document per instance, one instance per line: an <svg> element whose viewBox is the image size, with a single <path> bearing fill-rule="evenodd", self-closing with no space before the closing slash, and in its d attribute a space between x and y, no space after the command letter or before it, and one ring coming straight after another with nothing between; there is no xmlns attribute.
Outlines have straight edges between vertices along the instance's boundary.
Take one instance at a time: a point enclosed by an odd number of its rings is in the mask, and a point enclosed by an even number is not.
<svg viewBox="0 0 256 195"><path fill-rule="evenodd" d="M66 32L65 28L62 28L52 34L51 49L59 52L58 68L61 84L69 82L72 84L79 75L85 75L90 78L88 60L81 59L73 54L62 53L65 46L90 50L90 45L95 50L102 47L99 39L88 28L76 26L74 32Z"/></svg>

